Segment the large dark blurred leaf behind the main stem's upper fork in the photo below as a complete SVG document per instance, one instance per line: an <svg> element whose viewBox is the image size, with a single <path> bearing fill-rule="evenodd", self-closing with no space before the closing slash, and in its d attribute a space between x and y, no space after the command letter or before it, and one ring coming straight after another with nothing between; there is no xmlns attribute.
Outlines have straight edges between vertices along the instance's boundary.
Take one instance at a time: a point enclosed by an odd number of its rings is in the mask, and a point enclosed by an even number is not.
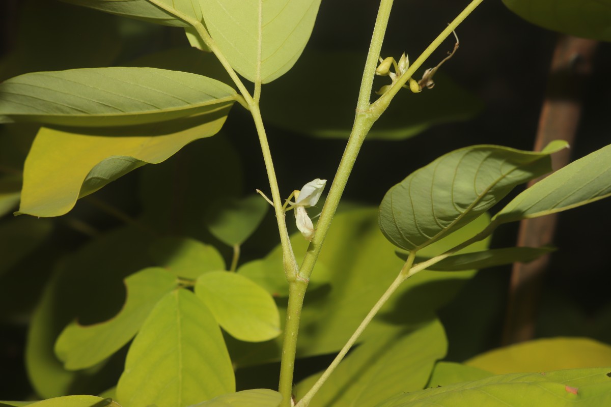
<svg viewBox="0 0 611 407"><path fill-rule="evenodd" d="M301 134L348 139L364 62L359 52L305 51L290 73L265 87L263 117ZM417 95L399 92L366 140L406 139L434 124L467 120L481 109L475 96L442 73L435 82L433 90Z"/></svg>

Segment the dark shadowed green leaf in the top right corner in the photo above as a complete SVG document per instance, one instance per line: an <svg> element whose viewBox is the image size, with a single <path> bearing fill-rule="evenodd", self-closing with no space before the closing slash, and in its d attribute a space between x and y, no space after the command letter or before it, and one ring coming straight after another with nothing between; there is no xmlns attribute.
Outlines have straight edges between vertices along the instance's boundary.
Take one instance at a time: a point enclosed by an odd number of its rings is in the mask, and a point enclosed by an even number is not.
<svg viewBox="0 0 611 407"><path fill-rule="evenodd" d="M530 23L593 40L611 41L609 0L503 0Z"/></svg>

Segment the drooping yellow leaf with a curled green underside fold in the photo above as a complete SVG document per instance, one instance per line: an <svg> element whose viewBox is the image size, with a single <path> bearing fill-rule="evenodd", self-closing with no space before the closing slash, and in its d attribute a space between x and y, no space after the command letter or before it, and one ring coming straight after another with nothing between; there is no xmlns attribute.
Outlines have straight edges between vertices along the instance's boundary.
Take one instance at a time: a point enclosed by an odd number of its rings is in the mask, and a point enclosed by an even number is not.
<svg viewBox="0 0 611 407"><path fill-rule="evenodd" d="M180 129L177 123L164 123L146 135L122 129L117 137L41 128L26 159L19 212L64 215L78 198L108 182L146 163L158 164L193 140L216 134L225 118L219 114L195 127L187 121Z"/></svg>

